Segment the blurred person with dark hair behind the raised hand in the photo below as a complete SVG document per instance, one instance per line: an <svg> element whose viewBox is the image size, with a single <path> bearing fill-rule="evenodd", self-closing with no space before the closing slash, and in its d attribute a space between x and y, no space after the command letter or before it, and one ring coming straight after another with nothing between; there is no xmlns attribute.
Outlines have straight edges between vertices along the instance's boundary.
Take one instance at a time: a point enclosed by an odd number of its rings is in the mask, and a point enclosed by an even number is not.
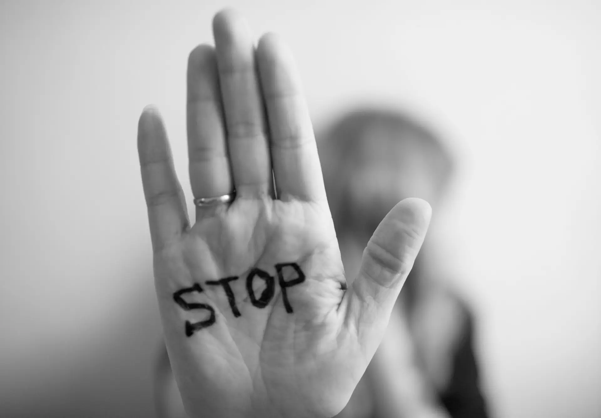
<svg viewBox="0 0 601 418"><path fill-rule="evenodd" d="M439 138L403 112L362 108L318 138L328 202L347 277L356 277L368 240L407 197L436 216L453 160ZM474 319L436 277L428 240L400 293L386 336L341 418L484 418L474 356Z"/></svg>

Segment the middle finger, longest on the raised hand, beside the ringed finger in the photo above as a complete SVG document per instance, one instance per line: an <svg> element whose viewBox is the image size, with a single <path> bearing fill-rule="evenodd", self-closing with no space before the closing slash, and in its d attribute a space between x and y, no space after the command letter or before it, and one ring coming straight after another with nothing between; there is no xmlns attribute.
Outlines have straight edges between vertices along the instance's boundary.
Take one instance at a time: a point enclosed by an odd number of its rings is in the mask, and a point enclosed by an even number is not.
<svg viewBox="0 0 601 418"><path fill-rule="evenodd" d="M267 195L273 177L251 32L225 10L213 19L213 33L236 195Z"/></svg>

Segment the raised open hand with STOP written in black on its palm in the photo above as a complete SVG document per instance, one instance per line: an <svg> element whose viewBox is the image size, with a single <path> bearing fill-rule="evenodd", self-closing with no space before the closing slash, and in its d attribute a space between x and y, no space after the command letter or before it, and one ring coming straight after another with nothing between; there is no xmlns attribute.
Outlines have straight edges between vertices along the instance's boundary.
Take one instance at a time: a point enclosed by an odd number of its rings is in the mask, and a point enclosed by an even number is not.
<svg viewBox="0 0 601 418"><path fill-rule="evenodd" d="M331 417L342 410L385 332L392 307L421 247L430 207L398 203L371 237L345 292L343 264L319 156L293 58L273 34L254 47L231 10L213 19L215 47L194 49L188 65L188 150L195 198L236 190L236 199L197 208L188 220L159 112L138 125L142 184L154 253L154 277L175 380L190 417ZM272 177L273 175L273 177ZM275 187L273 187L275 179ZM296 262L305 280L253 306L252 268L273 277ZM235 316L221 286L230 285ZM284 269L285 280L297 273ZM212 326L186 336L185 310L173 294L195 283L187 303L215 310ZM254 280L257 297L263 280Z"/></svg>

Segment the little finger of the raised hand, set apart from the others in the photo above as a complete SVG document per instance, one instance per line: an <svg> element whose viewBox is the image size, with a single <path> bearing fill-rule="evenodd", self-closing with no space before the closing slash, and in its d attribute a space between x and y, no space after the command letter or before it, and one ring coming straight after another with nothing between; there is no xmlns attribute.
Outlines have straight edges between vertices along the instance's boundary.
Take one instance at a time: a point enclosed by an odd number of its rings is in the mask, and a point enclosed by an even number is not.
<svg viewBox="0 0 601 418"><path fill-rule="evenodd" d="M189 222L165 126L159 111L151 106L144 109L138 123L138 156L150 238L156 252L180 237Z"/></svg>

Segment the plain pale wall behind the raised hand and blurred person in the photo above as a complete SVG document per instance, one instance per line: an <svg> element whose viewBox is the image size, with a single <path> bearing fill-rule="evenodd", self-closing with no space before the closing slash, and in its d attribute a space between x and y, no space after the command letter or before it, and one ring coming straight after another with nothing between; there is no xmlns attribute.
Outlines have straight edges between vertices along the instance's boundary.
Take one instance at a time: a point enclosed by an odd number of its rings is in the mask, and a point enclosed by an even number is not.
<svg viewBox="0 0 601 418"><path fill-rule="evenodd" d="M186 59L224 5L1 3L0 416L153 416L136 124L159 106L188 192ZM447 139L429 239L477 315L494 416L601 416L599 2L229 5L287 38L316 127L388 103Z"/></svg>

